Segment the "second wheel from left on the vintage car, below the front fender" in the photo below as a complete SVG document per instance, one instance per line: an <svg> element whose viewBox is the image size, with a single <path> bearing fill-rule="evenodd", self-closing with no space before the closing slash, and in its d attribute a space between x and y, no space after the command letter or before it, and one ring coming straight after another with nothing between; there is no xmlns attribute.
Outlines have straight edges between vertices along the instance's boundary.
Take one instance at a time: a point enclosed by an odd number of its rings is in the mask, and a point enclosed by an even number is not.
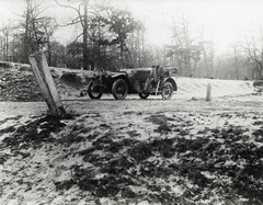
<svg viewBox="0 0 263 205"><path fill-rule="evenodd" d="M113 96L116 100L124 100L128 94L128 84L125 80L118 79L113 83L112 87Z"/></svg>

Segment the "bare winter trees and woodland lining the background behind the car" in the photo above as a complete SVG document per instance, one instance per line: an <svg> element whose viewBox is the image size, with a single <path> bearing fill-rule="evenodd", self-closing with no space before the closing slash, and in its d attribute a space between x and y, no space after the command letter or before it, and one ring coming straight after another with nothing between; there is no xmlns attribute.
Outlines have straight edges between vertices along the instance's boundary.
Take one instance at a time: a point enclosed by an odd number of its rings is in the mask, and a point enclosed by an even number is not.
<svg viewBox="0 0 263 205"><path fill-rule="evenodd" d="M28 64L28 56L44 52L50 67L85 70L175 66L181 77L255 80L263 75L263 27L259 35L232 44L218 54L213 37L204 27L194 30L190 16L179 11L170 26L170 44L152 45L146 39L144 22L128 10L106 1L55 0L57 7L72 10L76 16L61 25L48 16L38 0L24 0L20 20L0 22L0 60ZM75 26L77 37L66 45L54 37L61 27ZM226 31L227 32L227 31Z"/></svg>

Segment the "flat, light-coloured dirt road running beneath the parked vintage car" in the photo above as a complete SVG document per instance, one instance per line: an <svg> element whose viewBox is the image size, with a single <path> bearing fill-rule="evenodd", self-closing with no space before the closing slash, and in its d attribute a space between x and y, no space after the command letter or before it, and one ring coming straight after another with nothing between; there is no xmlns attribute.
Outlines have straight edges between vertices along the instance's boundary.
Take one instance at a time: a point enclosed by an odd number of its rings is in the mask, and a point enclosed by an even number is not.
<svg viewBox="0 0 263 205"><path fill-rule="evenodd" d="M64 105L68 112L90 113L90 112L193 112L193 113L215 113L215 112L251 112L263 113L263 95L227 96L213 99L205 102L204 99L172 99L162 101L152 96L148 100L140 100L138 96L129 96L124 101L116 101L113 98L101 100L75 99L65 100ZM35 116L47 113L45 102L0 102L0 117L12 115Z"/></svg>

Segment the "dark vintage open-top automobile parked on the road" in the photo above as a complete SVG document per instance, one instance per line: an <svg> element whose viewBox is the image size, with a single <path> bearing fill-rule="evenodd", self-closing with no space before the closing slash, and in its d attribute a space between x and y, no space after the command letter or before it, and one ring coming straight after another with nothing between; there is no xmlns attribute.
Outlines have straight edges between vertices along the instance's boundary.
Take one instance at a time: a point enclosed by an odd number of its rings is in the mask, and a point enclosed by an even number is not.
<svg viewBox="0 0 263 205"><path fill-rule="evenodd" d="M100 99L103 93L112 93L116 100L124 100L127 94L135 93L141 99L147 99L150 94L161 94L163 100L169 100L173 91L178 90L172 78L175 72L174 67L159 66L98 72L88 86L88 94L91 99Z"/></svg>

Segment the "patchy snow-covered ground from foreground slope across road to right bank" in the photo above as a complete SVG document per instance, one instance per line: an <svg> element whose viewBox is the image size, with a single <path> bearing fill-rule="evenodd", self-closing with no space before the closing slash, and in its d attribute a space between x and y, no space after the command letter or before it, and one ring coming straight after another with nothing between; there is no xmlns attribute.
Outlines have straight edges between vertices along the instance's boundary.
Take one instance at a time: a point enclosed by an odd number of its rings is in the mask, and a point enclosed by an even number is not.
<svg viewBox="0 0 263 205"><path fill-rule="evenodd" d="M0 204L262 204L263 96L252 81L175 80L170 101L65 95L60 121L0 102Z"/></svg>

